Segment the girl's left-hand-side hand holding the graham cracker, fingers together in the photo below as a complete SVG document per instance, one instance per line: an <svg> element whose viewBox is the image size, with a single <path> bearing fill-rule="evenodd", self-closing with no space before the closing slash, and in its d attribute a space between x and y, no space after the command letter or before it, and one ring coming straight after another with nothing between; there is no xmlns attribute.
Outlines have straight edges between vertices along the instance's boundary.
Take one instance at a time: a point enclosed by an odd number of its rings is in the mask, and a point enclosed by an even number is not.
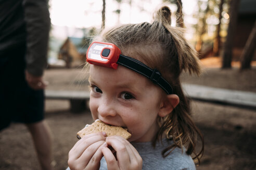
<svg viewBox="0 0 256 170"><path fill-rule="evenodd" d="M107 146L106 133L82 137L69 151L68 165L72 169L98 169L103 157L101 148Z"/></svg>

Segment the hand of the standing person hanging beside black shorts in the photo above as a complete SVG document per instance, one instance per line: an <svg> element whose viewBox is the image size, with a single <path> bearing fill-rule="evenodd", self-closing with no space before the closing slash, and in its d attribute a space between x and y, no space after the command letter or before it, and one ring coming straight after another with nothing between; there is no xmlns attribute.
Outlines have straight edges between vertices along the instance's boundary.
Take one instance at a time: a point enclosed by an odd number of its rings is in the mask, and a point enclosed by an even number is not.
<svg viewBox="0 0 256 170"><path fill-rule="evenodd" d="M47 83L43 81L42 76L34 76L30 74L27 70L25 70L25 78L29 86L34 90L45 89L47 86Z"/></svg>

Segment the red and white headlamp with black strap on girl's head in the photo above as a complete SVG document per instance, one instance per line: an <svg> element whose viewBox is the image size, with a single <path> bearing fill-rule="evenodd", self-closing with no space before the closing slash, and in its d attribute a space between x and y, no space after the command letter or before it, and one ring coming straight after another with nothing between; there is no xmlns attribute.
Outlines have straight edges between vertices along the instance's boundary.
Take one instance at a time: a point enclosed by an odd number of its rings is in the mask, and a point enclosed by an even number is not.
<svg viewBox="0 0 256 170"><path fill-rule="evenodd" d="M167 94L172 94L171 85L157 69L151 69L144 63L121 54L121 50L114 44L94 41L86 53L86 61L91 64L117 69L118 64L134 70L158 84Z"/></svg>

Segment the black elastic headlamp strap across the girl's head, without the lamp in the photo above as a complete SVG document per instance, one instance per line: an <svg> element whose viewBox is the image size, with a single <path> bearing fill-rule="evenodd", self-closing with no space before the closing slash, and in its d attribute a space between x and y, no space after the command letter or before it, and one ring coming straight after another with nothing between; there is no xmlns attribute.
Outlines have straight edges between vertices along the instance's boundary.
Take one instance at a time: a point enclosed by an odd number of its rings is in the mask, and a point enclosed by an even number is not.
<svg viewBox="0 0 256 170"><path fill-rule="evenodd" d="M122 54L120 54L117 64L130 68L149 78L153 83L158 84L167 94L173 93L171 85L161 76L161 73L157 69L151 69L144 63Z"/></svg>

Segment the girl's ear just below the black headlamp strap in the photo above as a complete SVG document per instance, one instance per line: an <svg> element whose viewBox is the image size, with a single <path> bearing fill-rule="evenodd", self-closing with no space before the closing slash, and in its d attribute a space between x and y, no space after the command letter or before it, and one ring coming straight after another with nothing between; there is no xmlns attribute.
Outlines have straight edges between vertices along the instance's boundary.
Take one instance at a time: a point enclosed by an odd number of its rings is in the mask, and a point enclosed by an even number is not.
<svg viewBox="0 0 256 170"><path fill-rule="evenodd" d="M172 112L172 110L178 105L180 98L176 94L169 94L165 97L160 105L160 110L158 115L160 117L165 117Z"/></svg>

